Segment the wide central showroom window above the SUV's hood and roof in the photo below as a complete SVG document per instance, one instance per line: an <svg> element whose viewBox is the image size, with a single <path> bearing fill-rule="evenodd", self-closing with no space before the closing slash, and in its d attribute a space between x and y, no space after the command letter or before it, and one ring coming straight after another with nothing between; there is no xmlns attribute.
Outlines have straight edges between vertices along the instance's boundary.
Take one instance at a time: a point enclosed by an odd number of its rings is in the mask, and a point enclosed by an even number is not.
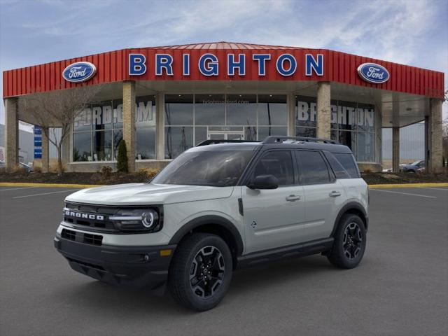
<svg viewBox="0 0 448 336"><path fill-rule="evenodd" d="M285 94L166 94L165 158L207 139L287 134Z"/></svg>

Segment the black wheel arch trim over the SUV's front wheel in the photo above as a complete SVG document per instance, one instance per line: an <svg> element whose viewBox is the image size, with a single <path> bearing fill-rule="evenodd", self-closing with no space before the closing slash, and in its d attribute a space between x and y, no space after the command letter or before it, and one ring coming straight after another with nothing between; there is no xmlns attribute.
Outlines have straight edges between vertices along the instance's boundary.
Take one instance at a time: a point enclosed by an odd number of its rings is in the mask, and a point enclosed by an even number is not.
<svg viewBox="0 0 448 336"><path fill-rule="evenodd" d="M218 225L221 228L230 232L230 235L232 235L232 238L234 239L236 244L235 246L237 250L236 256L239 256L243 253L244 250L243 239L241 238L238 229L227 218L223 218L221 216L216 215L206 215L194 218L190 222L183 225L182 228L180 228L174 234L172 239L169 241L169 244L179 244L179 242L183 239L183 237L188 235L188 232L195 230L195 228L200 228L203 225Z"/></svg>

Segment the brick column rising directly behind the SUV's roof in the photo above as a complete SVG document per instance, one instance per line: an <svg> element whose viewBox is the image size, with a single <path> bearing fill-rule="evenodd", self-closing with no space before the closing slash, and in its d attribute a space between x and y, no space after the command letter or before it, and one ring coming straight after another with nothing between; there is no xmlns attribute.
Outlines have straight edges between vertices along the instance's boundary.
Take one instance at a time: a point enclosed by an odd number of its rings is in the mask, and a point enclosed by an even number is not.
<svg viewBox="0 0 448 336"><path fill-rule="evenodd" d="M330 82L317 83L317 137L330 139Z"/></svg>

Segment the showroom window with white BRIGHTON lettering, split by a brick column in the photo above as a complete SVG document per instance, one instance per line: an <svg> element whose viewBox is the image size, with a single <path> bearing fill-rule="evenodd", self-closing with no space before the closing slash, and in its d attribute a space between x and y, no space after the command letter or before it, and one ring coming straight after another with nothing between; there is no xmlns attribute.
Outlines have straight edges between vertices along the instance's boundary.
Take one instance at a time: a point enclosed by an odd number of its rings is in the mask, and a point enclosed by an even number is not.
<svg viewBox="0 0 448 336"><path fill-rule="evenodd" d="M330 137L351 148L358 162L374 162L374 116L372 104L332 100ZM316 98L295 97L295 134L316 137Z"/></svg>

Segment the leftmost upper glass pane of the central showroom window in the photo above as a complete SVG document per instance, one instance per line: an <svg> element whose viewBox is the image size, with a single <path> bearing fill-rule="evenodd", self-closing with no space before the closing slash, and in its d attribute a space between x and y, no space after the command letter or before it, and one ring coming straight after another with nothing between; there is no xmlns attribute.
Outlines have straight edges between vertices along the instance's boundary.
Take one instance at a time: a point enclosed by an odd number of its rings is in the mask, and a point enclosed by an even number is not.
<svg viewBox="0 0 448 336"><path fill-rule="evenodd" d="M193 94L165 94L165 125L193 125Z"/></svg>

